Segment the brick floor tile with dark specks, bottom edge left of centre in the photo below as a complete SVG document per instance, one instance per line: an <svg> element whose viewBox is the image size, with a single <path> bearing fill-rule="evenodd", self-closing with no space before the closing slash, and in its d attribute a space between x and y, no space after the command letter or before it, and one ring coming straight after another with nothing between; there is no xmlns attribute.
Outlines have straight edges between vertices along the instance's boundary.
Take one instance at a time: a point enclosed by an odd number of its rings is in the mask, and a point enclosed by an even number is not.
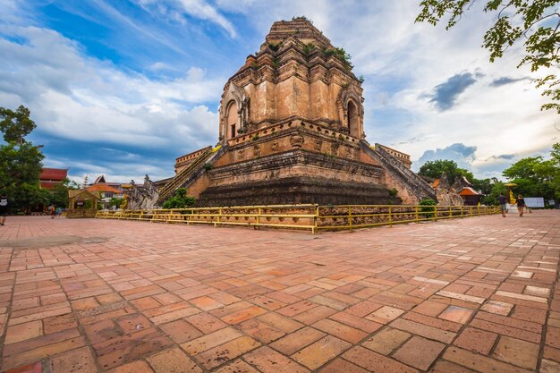
<svg viewBox="0 0 560 373"><path fill-rule="evenodd" d="M194 356L205 369L214 369L233 360L238 356L250 352L260 346L260 343L248 336L242 336L233 341L225 342L205 352Z"/></svg>

